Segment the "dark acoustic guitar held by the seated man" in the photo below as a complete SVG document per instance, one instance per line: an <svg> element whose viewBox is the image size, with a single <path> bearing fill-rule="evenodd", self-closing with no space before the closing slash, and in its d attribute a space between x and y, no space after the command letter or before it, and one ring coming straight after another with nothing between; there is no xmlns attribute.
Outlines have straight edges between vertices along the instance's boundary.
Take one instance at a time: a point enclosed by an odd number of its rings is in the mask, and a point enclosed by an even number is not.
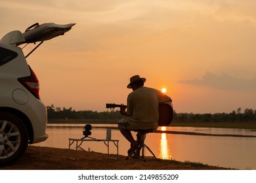
<svg viewBox="0 0 256 183"><path fill-rule="evenodd" d="M112 108L115 107L121 107L123 105L117 105L114 103L107 103L106 108ZM125 105L126 107L126 105ZM172 103L160 103L159 104L159 119L158 119L158 125L159 126L167 126L171 124L171 121L173 120L173 105Z"/></svg>

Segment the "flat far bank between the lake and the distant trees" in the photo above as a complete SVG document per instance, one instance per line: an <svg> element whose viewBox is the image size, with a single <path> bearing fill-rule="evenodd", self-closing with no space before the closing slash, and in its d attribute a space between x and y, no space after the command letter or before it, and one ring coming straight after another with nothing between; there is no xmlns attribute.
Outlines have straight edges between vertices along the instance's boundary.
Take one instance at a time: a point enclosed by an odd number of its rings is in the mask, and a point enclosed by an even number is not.
<svg viewBox="0 0 256 183"><path fill-rule="evenodd" d="M49 119L49 124L117 124L118 120L90 120L90 119ZM179 127L219 127L255 129L256 122L172 122L171 126Z"/></svg>

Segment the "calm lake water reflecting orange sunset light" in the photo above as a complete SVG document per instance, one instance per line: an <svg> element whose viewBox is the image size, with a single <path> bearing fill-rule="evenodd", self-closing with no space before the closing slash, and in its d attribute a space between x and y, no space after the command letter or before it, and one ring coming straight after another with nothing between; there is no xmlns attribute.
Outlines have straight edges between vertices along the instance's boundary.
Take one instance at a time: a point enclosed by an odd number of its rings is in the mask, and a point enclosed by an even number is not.
<svg viewBox="0 0 256 183"><path fill-rule="evenodd" d="M106 139L106 127L117 127L117 125L105 124L92 125L92 135L89 137L96 139ZM69 138L84 137L83 126L81 124L49 124L47 141L34 145L68 148ZM235 169L256 169L256 131L204 127L160 127L159 129L184 134L149 133L146 135L145 143L158 158L200 162ZM188 132L209 135L187 135ZM133 135L136 137L136 133ZM230 137L221 135L230 135ZM244 135L244 137L232 137L232 135ZM112 129L112 139L119 140L119 154L127 156L129 142L118 130ZM85 150L107 153L103 142L83 142L81 147ZM110 153L116 154L114 144L110 144ZM146 154L150 155L149 152Z"/></svg>

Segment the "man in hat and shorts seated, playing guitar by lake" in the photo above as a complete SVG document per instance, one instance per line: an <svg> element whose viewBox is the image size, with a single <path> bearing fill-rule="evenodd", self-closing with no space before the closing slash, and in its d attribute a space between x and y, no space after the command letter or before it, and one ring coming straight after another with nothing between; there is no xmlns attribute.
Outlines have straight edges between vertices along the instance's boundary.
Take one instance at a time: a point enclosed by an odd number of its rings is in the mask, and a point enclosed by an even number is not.
<svg viewBox="0 0 256 183"><path fill-rule="evenodd" d="M121 134L131 143L131 150L137 148L140 144L140 133L137 133L137 141L133 138L131 131L137 129L157 129L158 120L160 118L160 103L169 103L171 98L159 90L144 86L146 78L140 78L139 75L132 76L127 88L131 88L133 92L127 97L127 106L120 105L120 113L126 118L119 120L118 128ZM172 108L171 108L172 109ZM135 156L139 156L135 154Z"/></svg>

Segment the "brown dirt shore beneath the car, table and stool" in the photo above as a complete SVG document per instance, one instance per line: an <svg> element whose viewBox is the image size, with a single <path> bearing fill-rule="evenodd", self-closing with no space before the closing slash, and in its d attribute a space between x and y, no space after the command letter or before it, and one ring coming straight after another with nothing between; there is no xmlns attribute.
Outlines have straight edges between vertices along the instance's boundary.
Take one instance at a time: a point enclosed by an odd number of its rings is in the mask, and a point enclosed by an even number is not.
<svg viewBox="0 0 256 183"><path fill-rule="evenodd" d="M125 156L116 158L116 154L102 154L98 152L77 151L62 148L28 146L24 156L5 170L223 170L227 168L202 165L200 163L179 162L163 159L125 159Z"/></svg>

